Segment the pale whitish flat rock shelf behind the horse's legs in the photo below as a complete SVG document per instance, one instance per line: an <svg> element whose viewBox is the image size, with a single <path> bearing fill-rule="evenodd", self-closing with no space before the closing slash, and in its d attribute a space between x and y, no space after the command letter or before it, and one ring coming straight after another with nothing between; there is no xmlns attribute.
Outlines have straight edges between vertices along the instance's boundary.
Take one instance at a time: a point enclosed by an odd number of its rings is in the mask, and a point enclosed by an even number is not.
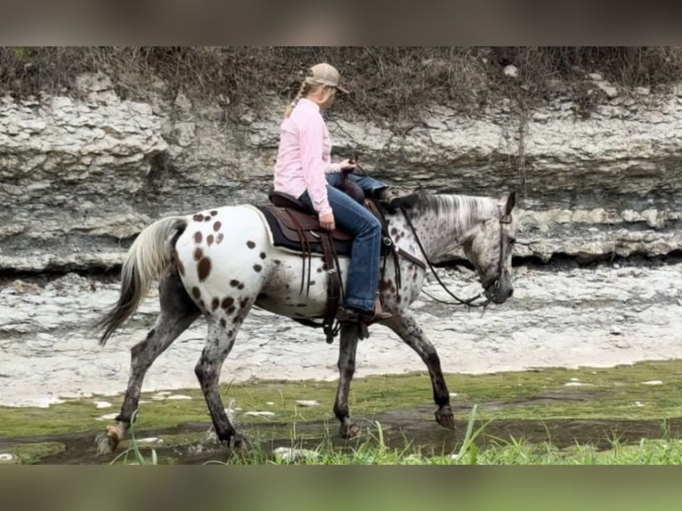
<svg viewBox="0 0 682 511"><path fill-rule="evenodd" d="M682 358L682 262L677 258L578 266L516 268L507 304L467 312L422 296L413 304L446 372L486 373L536 367L613 366ZM478 292L467 269L442 269L460 296ZM430 281L426 290L445 295ZM75 273L0 282L0 405L46 406L69 396L121 393L129 349L156 318L150 296L125 328L100 347L93 321L118 297L118 280ZM196 387L204 344L198 320L150 369L143 390ZM254 311L223 367L223 382L249 378L334 379L337 344L321 331ZM425 369L383 327L358 350L357 376ZM452 389L456 390L456 389Z"/></svg>

